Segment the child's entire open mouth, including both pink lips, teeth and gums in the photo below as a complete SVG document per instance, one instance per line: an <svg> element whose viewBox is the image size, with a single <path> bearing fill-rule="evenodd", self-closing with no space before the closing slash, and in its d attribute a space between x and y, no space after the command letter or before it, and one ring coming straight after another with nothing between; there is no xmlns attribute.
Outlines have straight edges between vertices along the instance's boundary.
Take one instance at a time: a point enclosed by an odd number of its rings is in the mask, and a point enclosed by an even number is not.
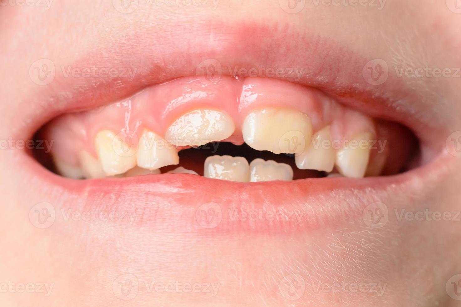
<svg viewBox="0 0 461 307"><path fill-rule="evenodd" d="M185 47L173 42L171 53L118 46L114 67L145 66L130 80L57 71L59 86L47 93L53 103L37 103L28 113L36 117L17 130L52 144L27 160L18 156L32 170L30 180L65 195L50 201L57 206L125 208L142 221L174 219L188 229L203 229L190 224L203 204L218 204L222 221L230 220L224 208L291 210L306 213L296 224L304 230L328 219L355 221L370 203L395 195L390 190L420 190L422 178L442 169L424 167L440 157L441 125L406 107L400 80L372 85L362 75L368 59L348 53L342 69L342 48L330 46L329 57L314 59L319 46L305 37L254 27L224 35L248 41L246 53L233 43L207 49L207 35L195 37L203 42L184 60ZM253 32L272 33L280 54L287 46L293 54L260 60L274 42ZM153 64L158 54L162 65ZM296 79L249 73L277 71L281 63L304 71ZM210 73L217 65L219 73Z"/></svg>

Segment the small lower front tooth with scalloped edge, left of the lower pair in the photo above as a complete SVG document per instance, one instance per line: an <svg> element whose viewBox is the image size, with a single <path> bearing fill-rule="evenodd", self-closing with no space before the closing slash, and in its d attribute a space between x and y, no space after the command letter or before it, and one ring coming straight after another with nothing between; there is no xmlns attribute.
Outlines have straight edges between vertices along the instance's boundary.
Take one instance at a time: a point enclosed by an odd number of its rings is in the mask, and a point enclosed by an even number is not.
<svg viewBox="0 0 461 307"><path fill-rule="evenodd" d="M203 176L238 182L250 181L250 169L243 157L212 156L205 160Z"/></svg>

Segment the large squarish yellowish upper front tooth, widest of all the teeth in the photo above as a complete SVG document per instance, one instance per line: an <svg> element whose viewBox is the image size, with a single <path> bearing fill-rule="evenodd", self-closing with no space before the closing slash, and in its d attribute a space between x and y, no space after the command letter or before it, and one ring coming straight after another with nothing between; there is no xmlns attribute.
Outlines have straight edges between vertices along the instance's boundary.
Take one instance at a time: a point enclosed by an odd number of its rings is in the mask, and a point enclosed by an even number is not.
<svg viewBox="0 0 461 307"><path fill-rule="evenodd" d="M312 136L307 114L267 108L251 112L242 125L243 139L251 148L273 153L302 153Z"/></svg>

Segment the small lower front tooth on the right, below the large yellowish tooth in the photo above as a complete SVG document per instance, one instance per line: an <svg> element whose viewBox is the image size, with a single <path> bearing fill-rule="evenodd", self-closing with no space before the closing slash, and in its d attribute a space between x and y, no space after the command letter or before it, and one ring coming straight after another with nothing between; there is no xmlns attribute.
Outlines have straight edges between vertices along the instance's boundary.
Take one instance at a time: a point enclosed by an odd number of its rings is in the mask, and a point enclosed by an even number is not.
<svg viewBox="0 0 461 307"><path fill-rule="evenodd" d="M250 163L251 182L272 180L293 180L293 169L285 163L273 160L254 159Z"/></svg>

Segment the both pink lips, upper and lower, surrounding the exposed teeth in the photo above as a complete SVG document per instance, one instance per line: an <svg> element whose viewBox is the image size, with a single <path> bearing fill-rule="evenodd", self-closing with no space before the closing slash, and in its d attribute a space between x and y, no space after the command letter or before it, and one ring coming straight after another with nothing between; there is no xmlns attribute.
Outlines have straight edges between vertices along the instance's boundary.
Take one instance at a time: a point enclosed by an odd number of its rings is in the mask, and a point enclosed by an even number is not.
<svg viewBox="0 0 461 307"><path fill-rule="evenodd" d="M437 147L434 140L437 140L437 129L441 128L428 130L426 123L410 116L411 111L396 112L389 97L390 93L397 98L405 95L402 86L391 77L389 82L381 86L366 83L362 69L369 59L345 47L315 35L290 32L289 27L281 30L256 24L232 27L202 24L195 27L199 28L195 28L194 33L169 29L124 35L113 41L112 46L106 47L104 53L96 51L87 54L84 59L79 59L77 65L73 65L139 68L139 73L131 81L109 77L64 77L59 66L68 63L56 61L53 83L31 96L33 101L30 105L33 108L21 110L21 118L34 119L16 130L18 138L32 135L42 124L59 114L94 108L133 94L149 84L195 75L197 65L203 60L217 59L222 67L230 65L247 70L258 65L305 68L305 74L298 83L323 89L339 97L345 104L361 107L361 110L374 116L392 118L407 124L416 132L426 131L425 140ZM209 39L211 34L213 40ZM43 100L43 97L48 99ZM39 112L42 109L47 112ZM57 207L81 210L133 210L136 223L168 225L184 231L203 230L201 223L197 222L196 212L203 204L215 203L221 210L221 221L213 230L222 233L290 232L354 223L361 219L363 209L373 201L391 203L394 194L408 190L412 193L405 195L423 194L422 182L429 184L429 181L442 176L447 170L445 165L448 159L442 156L429 165L391 177L360 180L312 178L288 183L245 184L183 174L72 181L51 174L25 154L12 158L28 171L22 180L34 187L35 195L28 196L37 202L49 201ZM41 186L46 189L41 190ZM241 223L228 215L229 210L233 209L247 213L255 209L278 213L302 212L303 218L298 224L267 219Z"/></svg>

